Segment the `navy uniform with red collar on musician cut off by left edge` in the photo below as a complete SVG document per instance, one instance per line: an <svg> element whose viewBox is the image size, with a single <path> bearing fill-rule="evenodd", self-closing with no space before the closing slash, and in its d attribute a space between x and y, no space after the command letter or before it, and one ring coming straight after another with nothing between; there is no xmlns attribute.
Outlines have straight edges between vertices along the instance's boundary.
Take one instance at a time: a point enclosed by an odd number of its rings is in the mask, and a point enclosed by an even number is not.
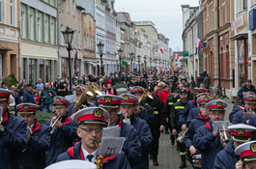
<svg viewBox="0 0 256 169"><path fill-rule="evenodd" d="M0 131L0 168L18 169L21 152L26 149L27 123L7 110L1 125L5 130Z"/></svg>

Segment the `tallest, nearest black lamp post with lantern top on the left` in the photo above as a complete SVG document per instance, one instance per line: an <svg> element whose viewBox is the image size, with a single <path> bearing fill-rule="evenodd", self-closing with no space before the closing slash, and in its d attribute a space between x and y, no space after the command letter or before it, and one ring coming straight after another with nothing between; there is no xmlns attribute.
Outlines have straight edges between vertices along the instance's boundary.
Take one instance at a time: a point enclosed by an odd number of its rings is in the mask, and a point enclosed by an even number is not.
<svg viewBox="0 0 256 169"><path fill-rule="evenodd" d="M73 36L73 30L70 29L69 26L66 27L65 31L62 31L64 40L66 42L67 50L69 52L69 67L70 67L70 91L72 89L71 87L71 42L72 42L72 36Z"/></svg>

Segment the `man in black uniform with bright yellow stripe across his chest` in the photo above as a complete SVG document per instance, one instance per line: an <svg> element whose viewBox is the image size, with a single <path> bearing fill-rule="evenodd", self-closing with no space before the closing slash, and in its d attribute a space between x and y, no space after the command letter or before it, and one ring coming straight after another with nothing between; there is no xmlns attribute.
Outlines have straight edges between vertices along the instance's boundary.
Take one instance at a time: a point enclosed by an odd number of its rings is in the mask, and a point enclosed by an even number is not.
<svg viewBox="0 0 256 169"><path fill-rule="evenodd" d="M182 126L180 124L179 121L179 115L180 115L180 111L182 111L185 108L185 104L187 103L187 92L185 90L181 90L180 92L180 98L181 100L176 102L173 105L172 108L172 118L171 118L171 125L172 125L172 133L174 135L177 135L178 133L180 133L182 131ZM179 148L180 148L180 155L182 158L182 164L180 165L180 168L185 168L186 164L185 164L185 155L186 155L186 148L185 148L185 144L184 143L180 143L179 144Z"/></svg>

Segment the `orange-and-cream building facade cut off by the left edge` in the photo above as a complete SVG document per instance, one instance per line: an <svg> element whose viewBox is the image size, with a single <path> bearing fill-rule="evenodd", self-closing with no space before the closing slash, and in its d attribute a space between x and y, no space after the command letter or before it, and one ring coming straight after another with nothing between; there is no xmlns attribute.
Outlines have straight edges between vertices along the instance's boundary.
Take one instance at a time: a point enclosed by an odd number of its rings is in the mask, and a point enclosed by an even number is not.
<svg viewBox="0 0 256 169"><path fill-rule="evenodd" d="M19 9L17 0L0 1L0 82L11 73L20 79Z"/></svg>

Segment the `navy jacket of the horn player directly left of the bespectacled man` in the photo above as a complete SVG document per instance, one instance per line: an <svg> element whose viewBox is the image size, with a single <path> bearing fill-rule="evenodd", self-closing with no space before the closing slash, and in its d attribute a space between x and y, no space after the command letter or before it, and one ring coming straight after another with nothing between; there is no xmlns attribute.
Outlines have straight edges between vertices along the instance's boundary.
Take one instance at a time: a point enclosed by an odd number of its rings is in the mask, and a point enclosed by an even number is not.
<svg viewBox="0 0 256 169"><path fill-rule="evenodd" d="M47 120L46 126L50 125L51 119ZM66 152L71 146L74 139L77 139L76 128L78 124L70 116L62 118L62 127L56 127L51 134L50 149L46 152L46 164L50 165L55 162L58 155Z"/></svg>

